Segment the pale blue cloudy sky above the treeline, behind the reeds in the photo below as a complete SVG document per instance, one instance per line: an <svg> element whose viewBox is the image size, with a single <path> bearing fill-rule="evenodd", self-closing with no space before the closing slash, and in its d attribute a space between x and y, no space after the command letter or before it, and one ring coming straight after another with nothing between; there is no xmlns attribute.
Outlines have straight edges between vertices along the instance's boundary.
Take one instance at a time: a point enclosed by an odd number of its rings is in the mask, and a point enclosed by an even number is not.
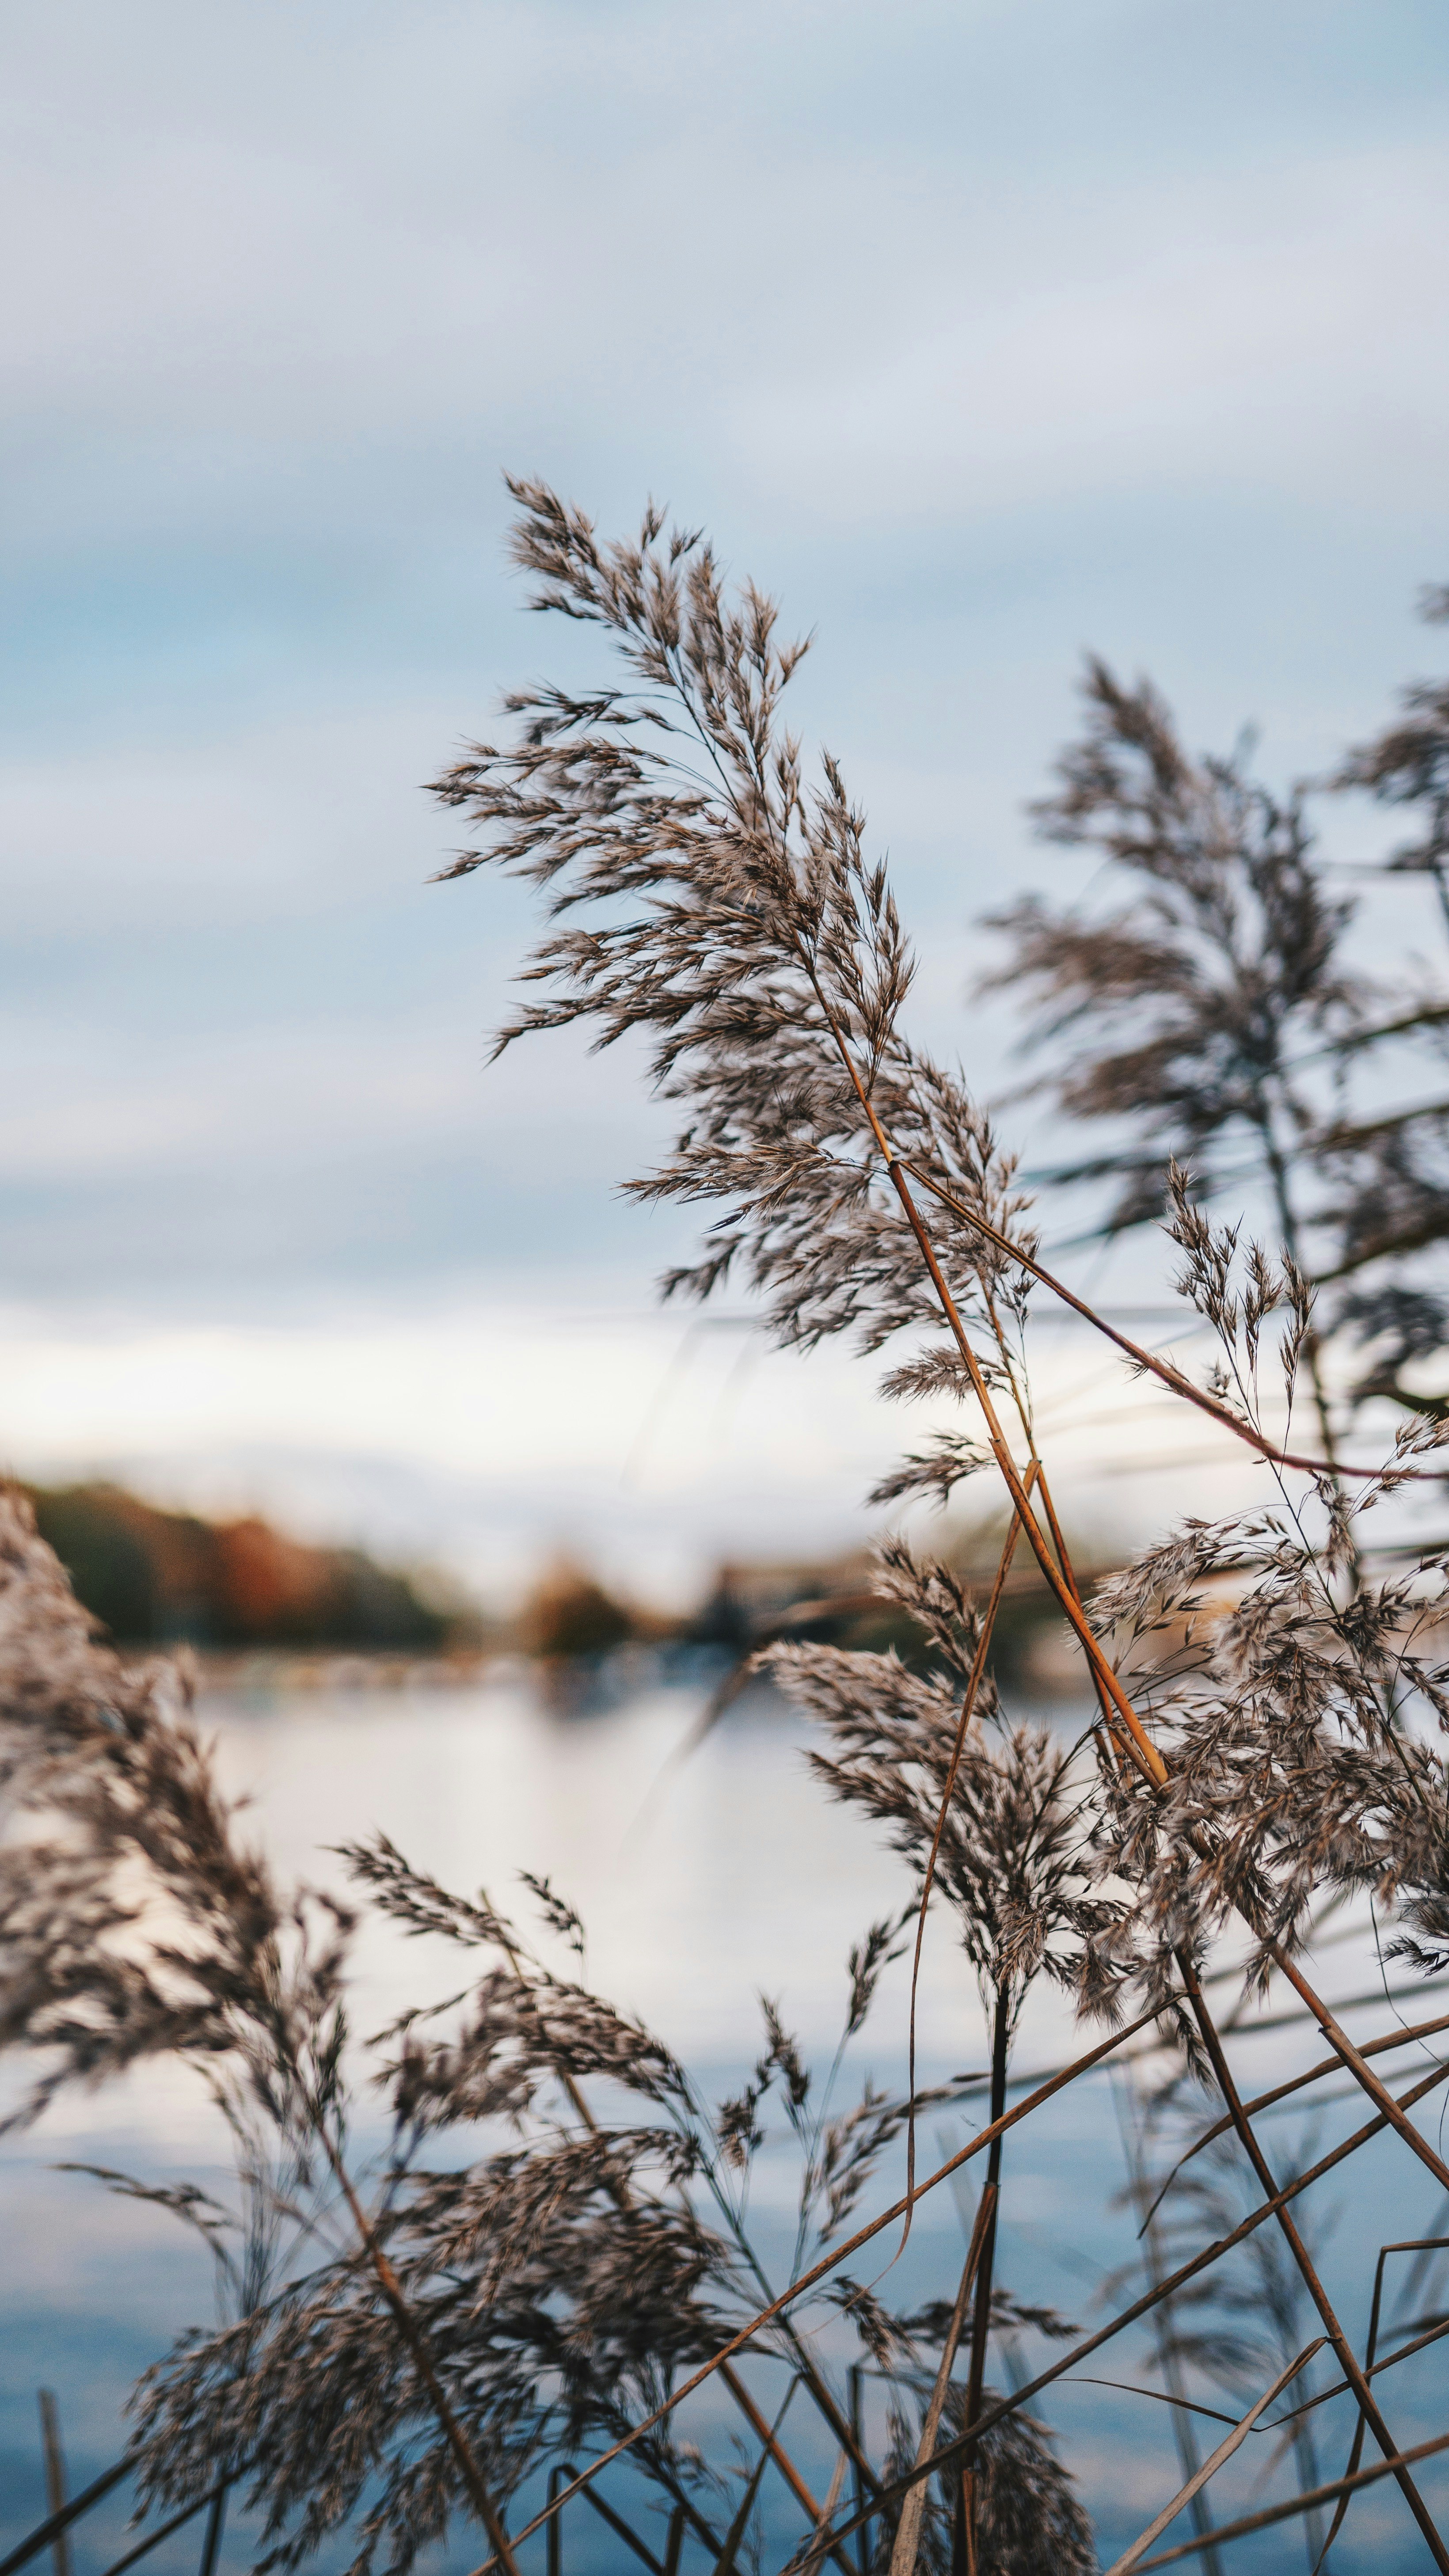
<svg viewBox="0 0 1449 2576"><path fill-rule="evenodd" d="M486 1069L530 909L422 788L584 667L502 474L816 629L914 1025L1009 1092L975 922L1076 884L1081 652L1277 781L1434 659L1444 13L13 0L0 121L0 1453L494 1589L854 1540L898 1425L656 1311L638 1061ZM1138 1437L1042 1383L1084 1476Z"/></svg>

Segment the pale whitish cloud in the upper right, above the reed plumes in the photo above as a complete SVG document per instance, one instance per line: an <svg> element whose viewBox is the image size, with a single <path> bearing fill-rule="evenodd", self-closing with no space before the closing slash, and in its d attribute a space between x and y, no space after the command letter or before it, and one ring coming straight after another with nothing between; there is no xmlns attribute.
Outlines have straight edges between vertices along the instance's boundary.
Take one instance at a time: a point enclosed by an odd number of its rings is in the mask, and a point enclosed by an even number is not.
<svg viewBox="0 0 1449 2576"><path fill-rule="evenodd" d="M741 451L831 510L970 520L1102 492L1246 482L1328 500L1439 479L1449 343L1441 149L1248 175L1014 191L965 258L914 263L836 368L741 389ZM963 209L965 216L965 209Z"/></svg>

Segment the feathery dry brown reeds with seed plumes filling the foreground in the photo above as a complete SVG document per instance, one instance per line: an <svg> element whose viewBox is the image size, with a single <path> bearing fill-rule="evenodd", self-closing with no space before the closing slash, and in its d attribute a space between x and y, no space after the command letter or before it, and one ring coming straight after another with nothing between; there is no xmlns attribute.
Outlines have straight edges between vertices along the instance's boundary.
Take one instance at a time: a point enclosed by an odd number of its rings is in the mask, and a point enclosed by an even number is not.
<svg viewBox="0 0 1449 2576"><path fill-rule="evenodd" d="M170 2053L211 2087L237 2141L237 2210L165 2192L214 2244L229 2313L136 2393L144 2491L183 2504L232 2478L260 2509L265 2566L301 2566L347 2530L358 2576L404 2571L458 2527L474 2537L456 2550L515 2576L553 2548L543 2532L558 2512L589 2496L620 2566L638 2555L728 2576L764 2563L770 2478L795 2514L795 2576L826 2563L842 2576L1071 2576L1096 2566L1096 2548L1048 2429L1050 2391L1140 2329L1168 2401L1161 2512L1120 2571L1179 2550L1220 2563L1233 2524L1215 2530L1207 2481L1259 2421L1282 2429L1297 2488L1248 2519L1307 2517L1318 2563L1382 2476L1413 2548L1449 2568L1418 2447L1405 2458L1382 2385L1449 2324L1423 2290L1413 2334L1390 2354L1359 2349L1313 2197L1328 2172L1351 2182L1382 2133L1405 2187L1426 2174L1449 2190L1413 2120L1449 2074L1423 2048L1439 2022L1385 2009L1380 2032L1351 2040L1313 1963L1328 1909L1346 1901L1372 1906L1403 1976L1449 1963L1449 1571L1439 1548L1385 1564L1367 1528L1410 1481L1444 1473L1444 1409L1405 1386L1416 1352L1439 1347L1434 1293L1413 1288L1428 1301L1413 1347L1382 1273L1336 1314L1333 1329L1377 1352L1364 1388L1392 1388L1403 1406L1385 1458L1346 1458L1361 1443L1333 1414L1289 1193L1307 1133L1287 1079L1300 1033L1367 1048L1405 1015L1374 1018L1338 969L1343 917L1300 811L1233 765L1192 765L1150 693L1096 672L1089 739L1048 822L1096 837L1148 878L1150 902L1091 922L1019 909L1009 974L1048 997L1058 1038L1081 1038L1094 997L1127 1023L1112 1054L1096 1012L1060 1082L1076 1110L1150 1110L1150 1131L1117 1157L1112 1224L1156 1216L1166 1193L1212 1368L1186 1376L1071 1301L1127 1368L1243 1443L1266 1502L1181 1517L1084 1600L1029 1378L1032 1311L1068 1291L991 1121L909 1036L914 966L885 868L836 762L808 773L782 716L803 647L780 641L754 587L728 592L695 531L651 510L636 541L605 544L543 484L515 497L533 603L600 629L613 670L587 693L517 693L510 739L438 781L474 835L445 873L507 868L548 909L533 999L499 1043L569 1023L600 1043L638 1038L677 1136L631 1188L708 1211L700 1260L667 1293L708 1298L734 1280L777 1342L844 1334L862 1363L883 1363L891 1399L947 1399L952 1427L916 1440L878 1499L999 1479L1009 1535L981 1597L903 1538L883 1546L878 1587L914 1623L911 1659L764 1651L811 1721L821 1793L901 1855L901 1904L847 1963L836 2066L811 2069L770 2004L749 2081L708 2102L659 2035L595 1994L582 1965L558 1965L582 1942L548 1883L528 1883L530 1929L438 1886L383 1832L345 1855L355 1904L401 1937L445 1937L461 1991L353 2045L353 1914L273 1883L219 1798L185 1669L124 1667L88 1633L23 1504L3 1507L0 1716L18 1829L0 1855L0 2035L39 2056L33 2110L64 2081ZM1444 732L1436 701L1410 716L1421 737ZM1377 770L1364 755L1359 775L1408 793L1418 760L1416 793L1434 799L1449 770L1431 747L1416 737ZM1428 1025L1436 1005L1416 1007ZM1192 1149L1223 1182L1212 1157L1243 1128L1274 1182L1271 1244L1217 1224L1174 1159ZM1436 1239L1423 1133L1318 1123L1320 1167L1338 1157L1354 1185L1359 1252L1367 1162L1390 1149L1405 1206L1418 1188L1416 1249ZM1385 1218L1382 1188L1377 1208ZM1392 1252L1380 1242L1372 1257ZM1351 1249L1338 1275L1354 1285L1364 1267L1369 1252ZM1076 1744L1017 1723L996 1695L991 1633L1017 1548L1081 1649L1094 1716ZM914 2050L932 1922L975 1984L991 2071L986 2123L924 2174L919 2120L945 2099L916 2084ZM842 2056L901 1953L914 1963L906 2084L865 2084L842 2105ZM1225 1960L1248 1999L1274 1981L1323 2032L1323 2058L1264 2102L1243 2099L1233 2074L1238 2007L1223 2017L1210 2002ZM1014 2040L1042 1978L1073 2002L1078 2053L1022 2092ZM1405 2089L1387 2061L1410 2043ZM1001 2277L1011 2133L1125 2050L1150 2074L1130 2120L1140 2262L1107 2313L1076 2326ZM1264 2112L1295 2092L1313 2099L1325 2079L1354 2097L1356 2125L1307 2161L1269 2156ZM358 2141L378 2110L386 2148L368 2156ZM749 2221L749 2172L772 2130L795 2141L800 2169L785 2282ZM885 2190L898 2164L903 2187ZM885 2259L952 2172L981 2182L965 2262L924 2306L891 2306L891 2275L867 2282L860 2257ZM1359 2226L1382 2233L1372 2202ZM849 2403L849 2347L885 2383L883 2439ZM703 2398L708 2383L721 2406ZM1204 2391L1233 2396L1207 2460L1199 2427L1223 2409ZM829 2483L811 2486L790 2447L790 2403L826 2427ZM1179 2512L1192 2540L1158 2548Z"/></svg>

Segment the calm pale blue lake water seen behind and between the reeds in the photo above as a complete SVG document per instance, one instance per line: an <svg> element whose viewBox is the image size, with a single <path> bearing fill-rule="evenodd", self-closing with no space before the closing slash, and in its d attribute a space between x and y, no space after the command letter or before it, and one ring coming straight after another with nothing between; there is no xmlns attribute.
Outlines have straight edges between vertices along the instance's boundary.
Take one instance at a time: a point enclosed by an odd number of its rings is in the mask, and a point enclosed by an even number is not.
<svg viewBox="0 0 1449 2576"><path fill-rule="evenodd" d="M703 1690L633 1687L613 1705L561 1710L528 1674L499 1674L471 1690L306 1690L245 1695L219 1692L206 1703L226 1783L250 1801L250 1832L265 1844L283 1878L342 1886L329 1844L383 1826L409 1860L463 1891L486 1888L502 1909L517 1909L530 1937L538 1917L517 1873L548 1875L587 1924L587 1976L600 1991L651 2022L710 2094L739 2079L759 2040L759 1994L777 1999L785 2022L816 2063L826 2063L844 2012L844 1958L865 1927L906 1896L901 1862L854 1814L831 1806L811 1780L803 1728L772 1700L736 1705L715 1731L687 1752ZM1053 1726L1076 1726L1081 1713L1055 1710ZM540 1935L538 1935L540 1937ZM566 1953L558 1953L566 1965ZM880 1999L847 2066L860 2084L872 2071L883 2084L903 2081L906 1968L888 1971ZM440 1999L458 1984L456 1955L435 1942L409 1942L378 1922L358 1937L353 2027L371 2032L404 2007ZM1346 1924L1320 1958L1320 1989L1331 1999L1364 1996L1354 2007L1359 2035L1392 2027L1382 1999L1382 1971L1372 1929ZM1223 1989L1233 1994L1233 1989ZM1377 2002L1374 2002L1377 1996ZM1426 1999L1405 2017L1426 2020L1441 2002ZM1246 2089L1282 2081L1318 2053L1302 2027L1279 2025L1282 1996L1269 1996L1261 2035L1243 2038L1238 2066ZM919 2012L921 2076L963 2074L983 2066L981 2007L970 1971L950 1940L947 1919L934 1919ZM1068 2012L1032 2002L1017 2040L1017 2066L1050 2069L1076 2053ZM1423 2048L1392 2061L1408 2084L1426 2063ZM1001 2210L1001 2277L1022 2300L1050 2300L1089 2329L1122 2306L1132 2290L1107 2300L1107 2275L1135 2257L1135 2221L1114 2202L1125 2182L1122 2138L1150 2069L1102 2074L1076 2087L1060 2105L1035 2115L1009 2141ZM1359 2105L1331 2099L1313 2120L1284 2117L1264 2125L1279 2166L1313 2138L1323 2154L1333 2138L1359 2125ZM973 2097L975 2099L975 2097ZM1436 2105L1428 2107L1436 2115ZM975 2125L973 2105L929 2115L921 2154L942 2161ZM1431 2123L1434 2125L1434 2123ZM937 2154L939 2151L939 2154ZM8 2548L44 2514L36 2391L54 2388L69 2486L77 2491L126 2442L124 2401L136 2372L188 2326L208 2326L214 2290L206 2254L152 2205L108 2195L85 2174L57 2172L64 2161L121 2166L144 2179L196 2177L219 2197L226 2166L219 2130L198 2087L175 2074L149 2074L106 2097L69 2099L39 2128L0 2141L5 2159L8 2262L5 2336L0 2349L0 2543ZM1372 2161L1369 2161L1372 2159ZM1385 2239L1428 2236L1449 2228L1449 2213L1423 2169L1382 2141L1361 2166L1367 2190L1354 2192L1361 2218L1338 2218L1349 2202L1333 2179L1310 2195L1315 2226L1325 2231L1325 2269L1341 2308L1361 2339L1372 2267ZM793 2161L785 2143L764 2151L754 2184L754 2221L770 2264L785 2277L790 2244ZM896 2169L883 2169L880 2202L891 2197ZM1241 2208L1248 2208L1248 2197ZM937 2192L921 2210L911 2246L883 2282L896 2306L955 2290L970 2195ZM870 2249L860 2277L875 2277L893 2239ZM854 2267L852 2267L854 2269ZM1400 2267L1403 2269L1403 2267ZM1243 2275L1243 2282L1248 2277ZM1392 2280L1392 2272L1390 2272ZM1416 2313L1449 2306L1449 2282L1421 2285ZM1248 2324L1261 2329L1264 2318ZM1300 2344L1315 2324L1305 2324ZM1037 2347L1022 2347L1040 2352ZM1295 2347L1289 2347L1295 2349ZM836 2347L821 2342L826 2357ZM1380 2383L1390 2427L1400 2445L1423 2442L1449 2424L1449 2372L1434 2347ZM839 2357L847 2347L839 2344ZM1037 2367L1032 2362L1032 2367ZM1086 2378L1091 2372L1094 2378ZM1251 2393L1274 2372L1248 2383ZM1045 2411L1060 2452L1078 2476L1096 2517L1104 2566L1122 2550L1181 2483L1171 2437L1171 2411L1150 2396L1127 2396L1094 2380L1130 2380L1161 2388L1150 2347L1125 2334L1081 2365L1081 2375L1050 2391ZM759 2378L762 2398L770 2393ZM1320 2385L1325 2380L1320 2378ZM1194 2391L1225 2414L1241 2414L1223 2391ZM867 2414L875 2396L867 2391ZM1274 2409L1277 2411L1277 2409ZM1223 2434L1199 2419L1202 2450ZM880 2424L878 2424L880 2432ZM834 2447L808 2403L795 2401L790 2447L824 2494ZM1333 2478L1351 2442L1343 2401L1315 2416L1318 2476ZM1372 2450L1369 2450L1372 2458ZM1449 2455L1446 2455L1449 2458ZM1212 2483L1215 2519L1248 2512L1295 2483L1292 2452L1279 2458L1277 2437L1253 2437ZM793 2548L800 2517L785 2491L767 2481L764 2576ZM1421 2488L1449 2517L1449 2470L1431 2460ZM77 2524L75 2576L100 2576L126 2543L126 2494ZM1168 2532L1176 2540L1186 2522ZM162 2545L147 2566L157 2576L196 2568L201 2524ZM239 2576L255 2555L255 2530L232 2512L221 2566ZM466 2571L481 2558L474 2535L432 2553L432 2568ZM522 2550L533 2576L543 2576L543 2535ZM1192 2561L1189 2561L1192 2563ZM1307 2568L1302 2530L1269 2530L1238 2543L1223 2566L1259 2576L1269 2568ZM1359 2568L1398 2571L1426 2566L1408 2509L1392 2481L1372 2486L1351 2509L1333 2548L1341 2576ZM327 2568L345 2566L332 2553ZM623 2545L582 2509L564 2535L569 2576L636 2566ZM690 2545L685 2568L695 2576L703 2553ZM741 2561L744 2566L744 2561ZM49 2576L49 2561L36 2561ZM64 2576L64 2571L57 2571Z"/></svg>

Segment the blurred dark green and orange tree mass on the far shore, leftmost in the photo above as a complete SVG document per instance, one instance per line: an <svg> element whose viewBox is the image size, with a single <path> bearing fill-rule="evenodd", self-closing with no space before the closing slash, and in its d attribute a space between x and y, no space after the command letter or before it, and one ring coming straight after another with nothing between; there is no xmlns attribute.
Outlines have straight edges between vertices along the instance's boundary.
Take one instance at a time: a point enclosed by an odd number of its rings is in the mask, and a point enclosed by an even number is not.
<svg viewBox="0 0 1449 2576"><path fill-rule="evenodd" d="M26 1492L77 1597L121 1646L430 1654L474 1641L360 1548L309 1548L255 1517L160 1512L113 1484Z"/></svg>

